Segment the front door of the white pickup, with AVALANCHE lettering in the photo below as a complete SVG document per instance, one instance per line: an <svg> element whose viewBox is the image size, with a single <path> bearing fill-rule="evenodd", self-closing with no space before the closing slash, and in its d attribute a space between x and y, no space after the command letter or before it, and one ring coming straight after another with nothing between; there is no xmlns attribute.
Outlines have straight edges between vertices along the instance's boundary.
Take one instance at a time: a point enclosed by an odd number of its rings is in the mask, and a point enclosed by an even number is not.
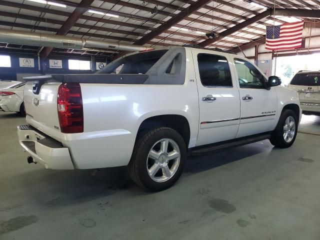
<svg viewBox="0 0 320 240"><path fill-rule="evenodd" d="M275 127L277 97L265 88L265 76L251 62L233 59L240 93L240 126L236 137L271 131Z"/></svg>

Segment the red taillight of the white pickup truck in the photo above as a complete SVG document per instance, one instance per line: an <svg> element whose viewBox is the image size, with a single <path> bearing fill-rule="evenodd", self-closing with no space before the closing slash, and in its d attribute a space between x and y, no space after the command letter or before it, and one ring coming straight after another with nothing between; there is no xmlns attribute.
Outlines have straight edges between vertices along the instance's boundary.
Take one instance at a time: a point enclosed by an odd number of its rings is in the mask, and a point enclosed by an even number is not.
<svg viewBox="0 0 320 240"><path fill-rule="evenodd" d="M57 108L61 132L83 132L83 107L79 83L59 86Z"/></svg>

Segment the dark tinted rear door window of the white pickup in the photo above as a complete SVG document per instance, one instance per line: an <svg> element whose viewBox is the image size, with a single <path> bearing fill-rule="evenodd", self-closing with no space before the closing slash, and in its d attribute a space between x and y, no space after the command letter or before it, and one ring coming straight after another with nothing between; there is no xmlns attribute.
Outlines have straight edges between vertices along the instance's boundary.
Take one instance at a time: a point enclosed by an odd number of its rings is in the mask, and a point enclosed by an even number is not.
<svg viewBox="0 0 320 240"><path fill-rule="evenodd" d="M200 80L204 86L232 86L229 64L224 56L198 54Z"/></svg>

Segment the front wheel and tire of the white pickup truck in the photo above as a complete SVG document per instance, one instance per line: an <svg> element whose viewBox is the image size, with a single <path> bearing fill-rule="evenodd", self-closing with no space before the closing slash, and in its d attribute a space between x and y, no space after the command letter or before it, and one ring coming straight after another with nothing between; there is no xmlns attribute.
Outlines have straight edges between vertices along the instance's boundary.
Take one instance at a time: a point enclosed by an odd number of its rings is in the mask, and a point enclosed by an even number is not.
<svg viewBox="0 0 320 240"><path fill-rule="evenodd" d="M280 115L278 124L270 138L272 145L286 148L293 144L298 130L298 120L294 111L284 109Z"/></svg>

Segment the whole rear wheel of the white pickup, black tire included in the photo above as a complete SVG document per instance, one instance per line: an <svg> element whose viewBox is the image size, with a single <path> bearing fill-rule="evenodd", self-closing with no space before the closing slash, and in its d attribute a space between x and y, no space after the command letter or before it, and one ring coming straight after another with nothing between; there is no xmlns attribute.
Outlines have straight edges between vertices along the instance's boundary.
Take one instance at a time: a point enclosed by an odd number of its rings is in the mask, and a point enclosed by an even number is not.
<svg viewBox="0 0 320 240"><path fill-rule="evenodd" d="M160 191L180 177L186 159L186 145L172 128L157 127L141 135L128 164L129 175L141 187Z"/></svg>

